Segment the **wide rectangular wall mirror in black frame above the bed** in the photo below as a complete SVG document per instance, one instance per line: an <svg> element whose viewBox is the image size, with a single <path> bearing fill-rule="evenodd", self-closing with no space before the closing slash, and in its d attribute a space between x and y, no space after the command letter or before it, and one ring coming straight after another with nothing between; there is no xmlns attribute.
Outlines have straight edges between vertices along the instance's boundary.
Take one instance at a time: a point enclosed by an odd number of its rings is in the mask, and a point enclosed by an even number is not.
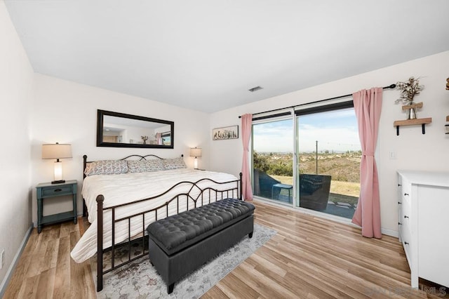
<svg viewBox="0 0 449 299"><path fill-rule="evenodd" d="M173 149L174 131L173 121L97 110L98 147Z"/></svg>

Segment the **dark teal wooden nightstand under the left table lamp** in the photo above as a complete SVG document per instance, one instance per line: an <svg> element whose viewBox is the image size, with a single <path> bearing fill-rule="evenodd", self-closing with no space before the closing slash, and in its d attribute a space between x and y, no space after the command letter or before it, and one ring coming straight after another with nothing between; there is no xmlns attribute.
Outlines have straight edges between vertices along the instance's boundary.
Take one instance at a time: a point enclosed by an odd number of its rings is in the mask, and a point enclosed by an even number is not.
<svg viewBox="0 0 449 299"><path fill-rule="evenodd" d="M36 186L37 197L37 232L40 233L42 225L57 223L66 220L73 220L76 224L76 180L67 180L60 184L51 182L41 182ZM72 195L73 211L43 216L43 199L48 197L61 197L63 195Z"/></svg>

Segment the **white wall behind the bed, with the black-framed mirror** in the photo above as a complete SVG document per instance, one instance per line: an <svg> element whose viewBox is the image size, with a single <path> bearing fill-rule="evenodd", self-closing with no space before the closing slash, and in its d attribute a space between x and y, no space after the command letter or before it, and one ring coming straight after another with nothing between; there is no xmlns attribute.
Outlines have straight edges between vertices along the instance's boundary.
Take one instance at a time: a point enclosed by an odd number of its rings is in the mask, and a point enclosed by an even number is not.
<svg viewBox="0 0 449 299"><path fill-rule="evenodd" d="M32 124L32 187L39 182L53 180L53 161L41 159L43 143L69 143L72 159L62 159L63 178L78 180L81 193L83 154L88 160L120 159L129 154L156 154L159 157L180 157L184 154L188 167L193 168L189 147L203 147L201 165L208 167L209 115L202 112L166 105L130 95L107 91L71 81L35 75L35 105ZM174 149L139 149L96 147L97 109L134 114L142 117L166 119L175 122ZM81 195L78 196L78 212L82 211ZM36 190L33 188L33 221L36 223ZM71 209L69 200L48 200L44 215Z"/></svg>

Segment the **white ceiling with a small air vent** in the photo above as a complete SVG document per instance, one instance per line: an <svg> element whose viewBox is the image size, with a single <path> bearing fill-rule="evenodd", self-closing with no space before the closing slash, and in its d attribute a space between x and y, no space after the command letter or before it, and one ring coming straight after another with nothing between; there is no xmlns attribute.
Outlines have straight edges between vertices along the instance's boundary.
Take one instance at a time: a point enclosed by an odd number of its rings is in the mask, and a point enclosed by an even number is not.
<svg viewBox="0 0 449 299"><path fill-rule="evenodd" d="M449 50L447 0L4 2L34 72L203 112Z"/></svg>

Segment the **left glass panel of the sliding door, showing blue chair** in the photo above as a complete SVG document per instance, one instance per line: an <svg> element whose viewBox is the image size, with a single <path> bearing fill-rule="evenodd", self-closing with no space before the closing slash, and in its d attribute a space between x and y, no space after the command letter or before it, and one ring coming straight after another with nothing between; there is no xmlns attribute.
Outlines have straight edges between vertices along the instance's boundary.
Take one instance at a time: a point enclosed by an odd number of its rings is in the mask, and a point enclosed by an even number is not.
<svg viewBox="0 0 449 299"><path fill-rule="evenodd" d="M253 124L253 193L283 204L293 203L293 119Z"/></svg>

